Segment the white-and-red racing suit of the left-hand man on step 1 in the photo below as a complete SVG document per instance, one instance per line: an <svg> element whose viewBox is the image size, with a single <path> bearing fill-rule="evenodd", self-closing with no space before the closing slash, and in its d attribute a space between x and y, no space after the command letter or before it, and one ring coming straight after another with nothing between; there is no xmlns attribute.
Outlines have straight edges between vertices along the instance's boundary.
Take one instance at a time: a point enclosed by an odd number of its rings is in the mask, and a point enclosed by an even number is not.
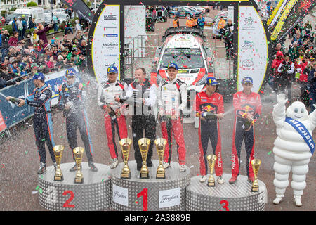
<svg viewBox="0 0 316 225"><path fill-rule="evenodd" d="M115 111L121 108L122 104L114 101L115 96L124 96L127 84L124 82L103 82L98 88L98 105L104 109L107 104ZM105 111L104 114L105 132L107 134L107 145L109 146L111 158L117 158L117 145L115 144L115 127L119 140L127 138L126 119L123 114L112 118Z"/></svg>

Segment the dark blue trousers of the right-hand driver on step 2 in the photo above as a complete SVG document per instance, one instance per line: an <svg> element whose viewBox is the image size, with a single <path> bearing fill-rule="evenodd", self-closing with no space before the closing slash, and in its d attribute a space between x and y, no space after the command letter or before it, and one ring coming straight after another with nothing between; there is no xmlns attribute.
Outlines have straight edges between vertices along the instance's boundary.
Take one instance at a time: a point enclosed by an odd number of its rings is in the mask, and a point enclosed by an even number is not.
<svg viewBox="0 0 316 225"><path fill-rule="evenodd" d="M86 112L82 110L79 113L71 113L70 115L68 115L66 117L66 129L67 139L71 150L74 150L74 148L79 147L77 144L77 129L79 129L81 139L84 142L84 151L86 152L88 162L93 162L93 150L90 134L88 131L88 118L86 117ZM74 159L73 151L72 158Z"/></svg>

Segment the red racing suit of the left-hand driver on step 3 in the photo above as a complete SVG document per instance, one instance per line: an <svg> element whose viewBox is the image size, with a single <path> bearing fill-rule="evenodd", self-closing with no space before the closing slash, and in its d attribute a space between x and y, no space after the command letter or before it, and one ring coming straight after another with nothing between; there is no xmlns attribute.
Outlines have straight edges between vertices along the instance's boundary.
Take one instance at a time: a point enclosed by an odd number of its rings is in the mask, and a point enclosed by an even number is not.
<svg viewBox="0 0 316 225"><path fill-rule="evenodd" d="M206 91L202 91L195 97L197 115L201 115L204 112L211 113L224 113L224 102L223 96L218 93L214 93L211 96L206 94ZM220 127L218 118L202 120L199 119L199 172L202 176L208 174L207 172L207 146L211 140L213 148L213 154L217 156L215 162L215 173L216 176L223 175L223 160L221 154L221 139L220 139Z"/></svg>

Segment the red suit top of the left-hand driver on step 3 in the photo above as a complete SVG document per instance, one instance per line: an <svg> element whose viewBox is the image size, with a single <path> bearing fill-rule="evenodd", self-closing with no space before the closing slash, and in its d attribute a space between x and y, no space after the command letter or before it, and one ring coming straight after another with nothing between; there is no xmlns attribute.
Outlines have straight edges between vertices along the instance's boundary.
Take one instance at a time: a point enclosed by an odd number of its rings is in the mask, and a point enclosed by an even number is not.
<svg viewBox="0 0 316 225"><path fill-rule="evenodd" d="M211 112L211 113L224 113L223 96L217 92L211 96L202 91L197 94L195 98L195 111L196 113Z"/></svg>

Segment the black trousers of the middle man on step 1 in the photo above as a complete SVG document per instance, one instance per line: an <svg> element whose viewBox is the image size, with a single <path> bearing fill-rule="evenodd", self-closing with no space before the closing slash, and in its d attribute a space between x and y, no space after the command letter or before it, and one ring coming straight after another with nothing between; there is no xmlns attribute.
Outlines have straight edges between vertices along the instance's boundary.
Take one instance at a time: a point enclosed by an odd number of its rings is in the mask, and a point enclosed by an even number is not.
<svg viewBox="0 0 316 225"><path fill-rule="evenodd" d="M145 130L145 136L144 136ZM133 131L133 147L135 160L138 164L143 162L142 155L138 146L138 140L145 137L150 139L150 147L148 149L147 160L152 158L152 147L156 139L156 120L152 115L133 115L132 117L132 131Z"/></svg>

